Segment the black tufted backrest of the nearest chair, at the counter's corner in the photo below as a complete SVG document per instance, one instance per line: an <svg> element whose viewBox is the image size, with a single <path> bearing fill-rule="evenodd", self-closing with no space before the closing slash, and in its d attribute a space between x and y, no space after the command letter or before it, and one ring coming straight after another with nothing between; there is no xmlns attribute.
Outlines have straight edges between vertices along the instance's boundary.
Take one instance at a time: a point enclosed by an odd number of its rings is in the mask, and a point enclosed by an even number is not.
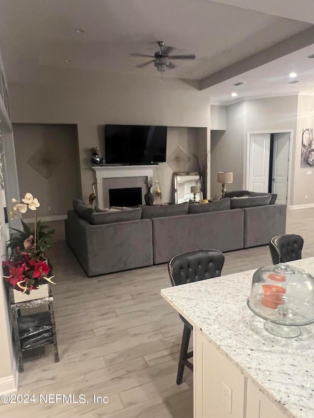
<svg viewBox="0 0 314 418"><path fill-rule="evenodd" d="M225 262L217 249L199 249L175 255L168 263L172 286L219 277Z"/></svg>

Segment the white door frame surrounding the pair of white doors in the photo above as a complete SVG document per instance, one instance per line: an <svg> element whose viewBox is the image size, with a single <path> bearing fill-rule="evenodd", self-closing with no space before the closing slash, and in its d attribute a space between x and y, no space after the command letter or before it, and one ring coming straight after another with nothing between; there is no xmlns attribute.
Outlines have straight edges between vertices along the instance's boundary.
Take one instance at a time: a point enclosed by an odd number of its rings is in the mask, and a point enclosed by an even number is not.
<svg viewBox="0 0 314 418"><path fill-rule="evenodd" d="M268 129L266 131L250 131L247 132L246 147L244 149L244 161L246 161L245 170L243 172L243 188L248 190L249 187L249 164L250 164L250 137L254 134L274 134L274 133L290 133L289 138L289 161L288 161L288 189L287 189L287 208L290 206L290 188L292 174L292 139L293 129Z"/></svg>

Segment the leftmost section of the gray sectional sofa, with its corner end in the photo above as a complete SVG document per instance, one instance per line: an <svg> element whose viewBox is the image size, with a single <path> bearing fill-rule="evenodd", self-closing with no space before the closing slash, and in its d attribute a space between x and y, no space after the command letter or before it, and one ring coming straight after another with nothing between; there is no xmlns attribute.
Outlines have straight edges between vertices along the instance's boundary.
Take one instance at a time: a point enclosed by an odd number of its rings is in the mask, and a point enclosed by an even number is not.
<svg viewBox="0 0 314 418"><path fill-rule="evenodd" d="M153 264L150 219L91 225L71 213L67 235L71 236L67 242L88 276Z"/></svg>

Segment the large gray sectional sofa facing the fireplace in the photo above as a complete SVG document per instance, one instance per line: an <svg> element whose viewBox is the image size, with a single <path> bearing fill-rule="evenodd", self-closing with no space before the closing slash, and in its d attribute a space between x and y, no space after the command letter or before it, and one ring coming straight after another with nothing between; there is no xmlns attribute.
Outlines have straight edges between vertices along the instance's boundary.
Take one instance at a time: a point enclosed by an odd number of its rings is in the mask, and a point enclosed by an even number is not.
<svg viewBox="0 0 314 418"><path fill-rule="evenodd" d="M254 198L106 212L75 200L65 220L66 241L88 276L167 263L193 249L265 245L286 232L287 208L269 204L270 197Z"/></svg>

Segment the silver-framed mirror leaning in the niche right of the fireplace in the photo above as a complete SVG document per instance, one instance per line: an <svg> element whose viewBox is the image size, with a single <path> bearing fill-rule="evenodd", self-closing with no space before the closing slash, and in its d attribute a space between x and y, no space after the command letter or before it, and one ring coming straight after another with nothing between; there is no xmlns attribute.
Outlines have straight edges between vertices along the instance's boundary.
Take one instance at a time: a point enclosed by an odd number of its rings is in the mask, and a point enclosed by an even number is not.
<svg viewBox="0 0 314 418"><path fill-rule="evenodd" d="M173 174L174 203L200 201L201 176L198 172L175 172Z"/></svg>

